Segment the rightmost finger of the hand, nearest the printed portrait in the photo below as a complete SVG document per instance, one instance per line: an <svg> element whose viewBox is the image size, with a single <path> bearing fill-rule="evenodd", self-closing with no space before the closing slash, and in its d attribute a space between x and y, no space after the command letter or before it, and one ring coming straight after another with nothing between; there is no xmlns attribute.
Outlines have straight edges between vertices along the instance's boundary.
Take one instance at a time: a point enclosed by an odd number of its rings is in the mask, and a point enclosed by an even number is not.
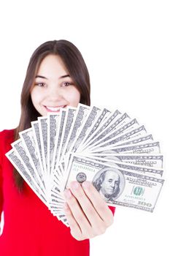
<svg viewBox="0 0 170 256"><path fill-rule="evenodd" d="M90 181L85 181L82 183L82 188L84 189L85 194L88 196L91 203L93 203L93 206L94 208L96 208L96 211L98 212L101 219L103 219L108 226L112 225L112 222L113 222L112 211L109 209L109 207L107 206L107 203L98 193L98 191L93 186L93 184L91 184Z"/></svg>

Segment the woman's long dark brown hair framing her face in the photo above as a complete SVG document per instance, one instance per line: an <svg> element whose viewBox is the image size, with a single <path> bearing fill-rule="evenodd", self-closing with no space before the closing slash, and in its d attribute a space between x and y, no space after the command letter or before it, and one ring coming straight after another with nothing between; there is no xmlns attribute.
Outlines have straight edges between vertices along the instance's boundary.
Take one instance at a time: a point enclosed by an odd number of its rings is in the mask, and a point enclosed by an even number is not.
<svg viewBox="0 0 170 256"><path fill-rule="evenodd" d="M82 58L82 54L77 47L67 40L47 41L34 51L28 64L26 78L23 83L21 92L21 115L18 127L15 129L15 140L20 138L19 132L31 127L31 121L35 121L38 116L41 116L31 101L31 89L34 85L36 73L42 60L49 54L58 55L61 57L63 64L70 77L74 81L74 85L80 91L80 102L85 105L90 105L90 78L88 68ZM23 188L23 178L17 170L14 169L15 184L18 189Z"/></svg>

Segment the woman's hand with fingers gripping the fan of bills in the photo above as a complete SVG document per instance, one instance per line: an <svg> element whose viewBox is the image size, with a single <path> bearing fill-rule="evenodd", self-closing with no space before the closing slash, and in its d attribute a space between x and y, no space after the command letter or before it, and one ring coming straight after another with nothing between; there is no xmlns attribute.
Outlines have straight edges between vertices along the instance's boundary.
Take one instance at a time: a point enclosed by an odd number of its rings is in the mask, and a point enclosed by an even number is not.
<svg viewBox="0 0 170 256"><path fill-rule="evenodd" d="M89 181L72 181L64 191L65 213L71 234L78 241L103 234L112 225L113 214Z"/></svg>

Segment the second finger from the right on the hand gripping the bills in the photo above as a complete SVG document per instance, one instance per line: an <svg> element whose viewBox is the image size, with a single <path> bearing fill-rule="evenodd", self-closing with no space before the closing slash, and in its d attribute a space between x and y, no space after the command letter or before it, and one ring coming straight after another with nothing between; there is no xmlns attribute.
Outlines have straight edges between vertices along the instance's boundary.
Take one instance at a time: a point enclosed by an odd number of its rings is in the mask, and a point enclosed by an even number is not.
<svg viewBox="0 0 170 256"><path fill-rule="evenodd" d="M82 211L84 211L88 221L90 222L90 225L95 228L101 226L103 220L96 212L96 209L93 207L93 204L90 202L81 185L77 181L72 181L70 184L70 189L74 197L76 197L80 203Z"/></svg>

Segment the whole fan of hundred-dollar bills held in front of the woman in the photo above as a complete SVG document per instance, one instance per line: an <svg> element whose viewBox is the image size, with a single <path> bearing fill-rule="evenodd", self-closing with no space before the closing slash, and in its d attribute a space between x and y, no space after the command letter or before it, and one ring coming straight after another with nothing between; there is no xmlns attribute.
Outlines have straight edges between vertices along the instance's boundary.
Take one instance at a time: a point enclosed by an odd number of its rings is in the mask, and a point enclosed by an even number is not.
<svg viewBox="0 0 170 256"><path fill-rule="evenodd" d="M127 113L79 104L31 122L6 156L65 225L63 191L92 182L109 206L152 212L163 186L163 155Z"/></svg>

